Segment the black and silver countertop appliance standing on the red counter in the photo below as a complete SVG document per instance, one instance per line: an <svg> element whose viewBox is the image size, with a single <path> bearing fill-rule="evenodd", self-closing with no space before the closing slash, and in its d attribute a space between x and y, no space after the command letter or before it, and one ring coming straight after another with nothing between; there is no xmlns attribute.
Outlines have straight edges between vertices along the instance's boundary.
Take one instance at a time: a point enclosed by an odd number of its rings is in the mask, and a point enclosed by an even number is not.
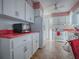
<svg viewBox="0 0 79 59"><path fill-rule="evenodd" d="M13 31L15 33L30 32L31 27L29 23L16 23L13 24Z"/></svg>

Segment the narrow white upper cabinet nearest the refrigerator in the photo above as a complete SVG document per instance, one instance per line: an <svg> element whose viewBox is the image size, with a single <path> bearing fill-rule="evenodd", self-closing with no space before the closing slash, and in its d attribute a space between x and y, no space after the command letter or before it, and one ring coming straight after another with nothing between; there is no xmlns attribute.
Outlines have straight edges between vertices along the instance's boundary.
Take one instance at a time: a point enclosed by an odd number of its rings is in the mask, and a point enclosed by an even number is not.
<svg viewBox="0 0 79 59"><path fill-rule="evenodd" d="M26 21L34 23L34 9L26 2Z"/></svg>

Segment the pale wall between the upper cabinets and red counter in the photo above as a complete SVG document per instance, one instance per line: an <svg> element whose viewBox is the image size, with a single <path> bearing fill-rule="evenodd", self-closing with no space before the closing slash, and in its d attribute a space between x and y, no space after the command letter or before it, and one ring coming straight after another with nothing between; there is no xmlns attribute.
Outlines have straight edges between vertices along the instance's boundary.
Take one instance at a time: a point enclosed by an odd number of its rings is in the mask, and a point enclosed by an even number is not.
<svg viewBox="0 0 79 59"><path fill-rule="evenodd" d="M22 21L16 19L7 19L0 17L0 30L1 29L12 29L12 24L21 23Z"/></svg>

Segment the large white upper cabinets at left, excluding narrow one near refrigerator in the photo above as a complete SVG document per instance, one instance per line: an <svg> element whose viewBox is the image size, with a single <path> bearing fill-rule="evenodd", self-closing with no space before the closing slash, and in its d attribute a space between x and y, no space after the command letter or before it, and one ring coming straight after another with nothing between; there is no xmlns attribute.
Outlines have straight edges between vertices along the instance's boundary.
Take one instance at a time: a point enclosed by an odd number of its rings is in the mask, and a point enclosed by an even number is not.
<svg viewBox="0 0 79 59"><path fill-rule="evenodd" d="M1 12L3 15L25 21L25 0L0 0Z"/></svg>

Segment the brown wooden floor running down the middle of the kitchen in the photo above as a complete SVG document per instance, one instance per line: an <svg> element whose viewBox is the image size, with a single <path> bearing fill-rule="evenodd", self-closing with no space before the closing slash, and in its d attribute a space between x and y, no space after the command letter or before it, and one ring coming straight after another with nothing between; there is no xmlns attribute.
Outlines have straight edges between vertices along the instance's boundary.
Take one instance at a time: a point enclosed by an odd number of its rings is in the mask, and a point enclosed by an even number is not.
<svg viewBox="0 0 79 59"><path fill-rule="evenodd" d="M74 59L72 54L62 48L61 42L47 41L43 49L39 49L31 59Z"/></svg>

